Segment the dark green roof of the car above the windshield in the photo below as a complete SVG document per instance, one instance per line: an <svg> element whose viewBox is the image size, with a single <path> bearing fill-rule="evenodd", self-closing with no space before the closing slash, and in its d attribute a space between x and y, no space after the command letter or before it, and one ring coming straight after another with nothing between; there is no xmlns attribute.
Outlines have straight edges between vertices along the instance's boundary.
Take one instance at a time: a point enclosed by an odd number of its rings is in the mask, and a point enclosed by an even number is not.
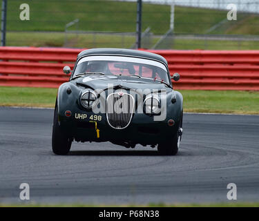
<svg viewBox="0 0 259 221"><path fill-rule="evenodd" d="M88 55L129 55L133 57L142 57L146 59L154 59L157 61L161 61L166 64L167 61L161 55L157 55L151 52L146 52L142 50L132 50L132 49L122 49L122 48L95 48L83 50L77 55L77 58L88 56Z"/></svg>

